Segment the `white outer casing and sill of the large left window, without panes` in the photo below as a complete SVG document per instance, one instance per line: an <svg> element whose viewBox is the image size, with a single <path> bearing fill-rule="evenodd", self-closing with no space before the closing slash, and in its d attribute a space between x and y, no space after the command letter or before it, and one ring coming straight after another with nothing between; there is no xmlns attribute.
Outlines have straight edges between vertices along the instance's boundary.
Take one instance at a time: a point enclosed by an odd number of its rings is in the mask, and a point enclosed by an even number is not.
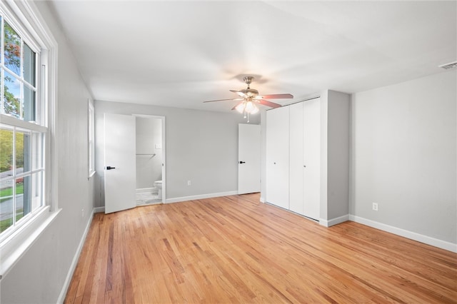
<svg viewBox="0 0 457 304"><path fill-rule="evenodd" d="M21 37L26 41L34 41L36 48L40 49L40 66L37 71L37 85L40 96L37 108L43 114L40 119L43 126L34 125L33 128L39 128L46 132L46 141L44 145L45 154L45 172L44 180L44 206L39 208L36 213L32 214L27 221L9 233L2 235L0 240L0 280L11 270L22 255L34 243L36 238L43 233L44 229L54 221L60 213L57 203L58 198L58 171L57 160L58 151L56 148L56 79L57 79L57 42L52 36L51 31L46 26L44 18L39 13L35 4L31 1L1 1L0 11L2 16L9 24L14 24L20 31ZM16 118L0 114L1 122L12 126L23 126L31 129L27 121L19 121Z"/></svg>

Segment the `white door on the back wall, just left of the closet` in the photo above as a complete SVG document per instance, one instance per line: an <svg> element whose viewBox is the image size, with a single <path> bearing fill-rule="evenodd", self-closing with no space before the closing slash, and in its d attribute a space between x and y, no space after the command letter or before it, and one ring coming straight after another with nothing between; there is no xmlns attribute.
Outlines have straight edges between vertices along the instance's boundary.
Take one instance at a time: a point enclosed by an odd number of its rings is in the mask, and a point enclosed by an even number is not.
<svg viewBox="0 0 457 304"><path fill-rule="evenodd" d="M238 124L238 194L260 192L260 125Z"/></svg>

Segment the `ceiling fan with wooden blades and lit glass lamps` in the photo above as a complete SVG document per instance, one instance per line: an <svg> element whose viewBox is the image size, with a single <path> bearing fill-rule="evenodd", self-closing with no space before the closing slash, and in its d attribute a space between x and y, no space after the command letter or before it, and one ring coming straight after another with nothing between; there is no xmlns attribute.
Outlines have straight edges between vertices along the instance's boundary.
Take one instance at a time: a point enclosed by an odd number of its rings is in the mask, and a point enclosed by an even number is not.
<svg viewBox="0 0 457 304"><path fill-rule="evenodd" d="M245 76L243 77L243 81L248 85L247 88L243 88L242 90L235 91L230 90L233 93L238 95L238 98L229 98L229 99L218 99L214 101L240 101L231 108L232 110L236 110L240 113L244 113L244 117L246 118L247 114L253 114L258 112L258 107L256 103L260 103L263 106L269 106L271 108L278 108L281 105L278 103L273 103L266 99L285 99L285 98L293 98L292 94L284 93L284 94L270 94L270 95L258 95L258 91L255 88L251 88L249 85L253 81L253 76ZM204 102L214 102L214 101L204 101Z"/></svg>

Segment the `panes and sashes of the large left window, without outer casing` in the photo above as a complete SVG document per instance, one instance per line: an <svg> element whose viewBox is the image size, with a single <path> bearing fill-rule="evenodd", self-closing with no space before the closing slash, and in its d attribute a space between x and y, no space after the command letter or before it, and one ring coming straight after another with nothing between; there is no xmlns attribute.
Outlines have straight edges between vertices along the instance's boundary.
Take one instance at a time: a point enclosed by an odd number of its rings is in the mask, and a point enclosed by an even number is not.
<svg viewBox="0 0 457 304"><path fill-rule="evenodd" d="M12 118L0 123L0 233L4 234L44 206L46 128L36 111L39 51L34 51L3 16L0 21L0 113Z"/></svg>

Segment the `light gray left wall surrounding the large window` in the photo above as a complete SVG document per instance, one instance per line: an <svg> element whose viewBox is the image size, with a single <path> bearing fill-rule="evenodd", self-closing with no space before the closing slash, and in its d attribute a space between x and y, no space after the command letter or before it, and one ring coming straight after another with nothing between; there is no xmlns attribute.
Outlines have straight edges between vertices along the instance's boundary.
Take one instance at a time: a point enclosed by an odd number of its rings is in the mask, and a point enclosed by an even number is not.
<svg viewBox="0 0 457 304"><path fill-rule="evenodd" d="M1 303L56 303L94 206L88 180L87 100L71 49L45 1L36 1L59 44L57 133L61 213L1 279ZM84 216L81 210L84 209Z"/></svg>

